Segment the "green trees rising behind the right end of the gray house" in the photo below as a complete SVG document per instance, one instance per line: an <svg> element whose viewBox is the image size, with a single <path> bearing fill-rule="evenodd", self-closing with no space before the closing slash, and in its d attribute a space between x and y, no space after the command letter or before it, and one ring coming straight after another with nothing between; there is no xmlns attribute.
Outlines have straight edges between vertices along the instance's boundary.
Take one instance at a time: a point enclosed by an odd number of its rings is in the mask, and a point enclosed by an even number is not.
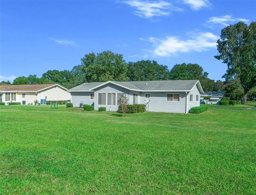
<svg viewBox="0 0 256 195"><path fill-rule="evenodd" d="M207 78L208 73L198 64L176 64L170 71L171 80L199 80L204 91L216 91L217 84Z"/></svg>

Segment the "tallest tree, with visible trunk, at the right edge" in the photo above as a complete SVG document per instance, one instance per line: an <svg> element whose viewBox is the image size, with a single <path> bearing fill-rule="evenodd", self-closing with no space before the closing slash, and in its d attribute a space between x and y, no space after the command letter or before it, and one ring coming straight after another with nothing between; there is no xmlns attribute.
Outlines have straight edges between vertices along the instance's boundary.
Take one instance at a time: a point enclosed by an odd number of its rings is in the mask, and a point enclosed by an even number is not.
<svg viewBox="0 0 256 195"><path fill-rule="evenodd" d="M223 77L239 78L246 104L247 93L256 86L256 22L229 25L221 30L217 44L219 55L215 58L228 66Z"/></svg>

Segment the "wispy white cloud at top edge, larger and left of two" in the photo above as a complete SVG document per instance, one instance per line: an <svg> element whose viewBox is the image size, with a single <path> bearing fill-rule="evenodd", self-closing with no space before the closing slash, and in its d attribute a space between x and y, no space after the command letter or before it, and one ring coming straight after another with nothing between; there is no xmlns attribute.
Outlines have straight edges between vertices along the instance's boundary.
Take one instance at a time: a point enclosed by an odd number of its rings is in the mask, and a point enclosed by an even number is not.
<svg viewBox="0 0 256 195"><path fill-rule="evenodd" d="M135 7L133 13L141 18L151 18L153 16L170 15L171 11L183 11L179 7L173 6L167 1L140 1L131 0L124 3Z"/></svg>

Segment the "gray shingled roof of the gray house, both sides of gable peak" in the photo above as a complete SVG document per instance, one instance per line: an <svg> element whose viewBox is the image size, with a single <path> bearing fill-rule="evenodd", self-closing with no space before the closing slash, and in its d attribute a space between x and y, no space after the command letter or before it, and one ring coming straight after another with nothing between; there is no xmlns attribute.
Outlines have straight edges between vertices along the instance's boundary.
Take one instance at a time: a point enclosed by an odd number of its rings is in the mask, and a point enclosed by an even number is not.
<svg viewBox="0 0 256 195"><path fill-rule="evenodd" d="M112 81L129 89L135 90L191 90L198 80L166 80L166 81ZM69 89L87 91L105 82L83 83Z"/></svg>

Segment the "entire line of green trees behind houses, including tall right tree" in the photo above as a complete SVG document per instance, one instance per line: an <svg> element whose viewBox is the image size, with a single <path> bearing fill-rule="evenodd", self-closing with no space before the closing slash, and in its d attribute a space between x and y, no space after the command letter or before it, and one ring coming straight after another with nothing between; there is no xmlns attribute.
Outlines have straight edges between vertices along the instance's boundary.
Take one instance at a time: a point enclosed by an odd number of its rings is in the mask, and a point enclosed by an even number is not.
<svg viewBox="0 0 256 195"><path fill-rule="evenodd" d="M175 64L171 70L157 61L125 62L122 54L111 51L89 53L72 70L49 70L42 74L18 77L0 84L58 83L68 89L84 82L199 80L204 91L224 91L231 99L256 97L256 22L248 26L238 22L221 30L217 41L219 55L214 56L227 64L225 81L214 81L198 64Z"/></svg>

